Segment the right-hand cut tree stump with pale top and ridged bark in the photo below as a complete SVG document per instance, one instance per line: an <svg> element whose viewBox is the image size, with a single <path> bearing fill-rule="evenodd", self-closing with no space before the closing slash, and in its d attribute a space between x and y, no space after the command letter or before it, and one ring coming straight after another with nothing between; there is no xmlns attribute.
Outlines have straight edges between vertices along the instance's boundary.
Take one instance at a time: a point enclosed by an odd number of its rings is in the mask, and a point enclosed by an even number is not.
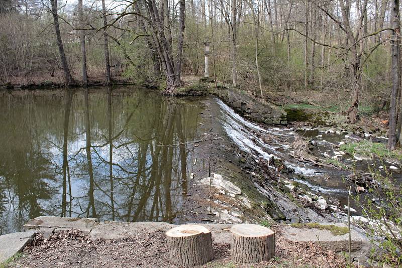
<svg viewBox="0 0 402 268"><path fill-rule="evenodd" d="M275 233L264 226L236 224L230 229L232 260L237 263L267 261L275 254Z"/></svg>

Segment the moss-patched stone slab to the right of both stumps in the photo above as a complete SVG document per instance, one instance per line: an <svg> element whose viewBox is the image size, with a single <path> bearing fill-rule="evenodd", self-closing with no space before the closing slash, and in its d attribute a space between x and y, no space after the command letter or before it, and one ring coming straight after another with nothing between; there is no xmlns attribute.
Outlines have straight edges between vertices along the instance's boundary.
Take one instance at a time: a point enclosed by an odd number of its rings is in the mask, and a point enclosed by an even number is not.
<svg viewBox="0 0 402 268"><path fill-rule="evenodd" d="M322 224L322 225L328 225ZM343 223L334 223L339 227L347 227ZM281 231L286 239L292 242L309 242L320 243L324 248L334 250L335 252L349 250L349 233L342 235L334 235L329 230L321 230L316 228L295 228L291 225L281 226ZM318 236L318 237L317 237ZM320 239L320 241L319 241ZM351 249L354 252L364 253L370 248L369 239L361 232L352 229L351 231Z"/></svg>

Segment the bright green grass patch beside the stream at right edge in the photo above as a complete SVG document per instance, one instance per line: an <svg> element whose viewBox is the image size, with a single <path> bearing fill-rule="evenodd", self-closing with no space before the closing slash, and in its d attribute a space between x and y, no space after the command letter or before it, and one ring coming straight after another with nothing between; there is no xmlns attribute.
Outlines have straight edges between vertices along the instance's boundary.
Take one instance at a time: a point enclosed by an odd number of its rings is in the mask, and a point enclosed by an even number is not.
<svg viewBox="0 0 402 268"><path fill-rule="evenodd" d="M346 143L339 147L341 151L349 153L351 155L358 154L364 156L377 156L378 158L394 158L401 160L402 154L400 151L389 151L385 144L372 143L370 141L360 141L353 143Z"/></svg>

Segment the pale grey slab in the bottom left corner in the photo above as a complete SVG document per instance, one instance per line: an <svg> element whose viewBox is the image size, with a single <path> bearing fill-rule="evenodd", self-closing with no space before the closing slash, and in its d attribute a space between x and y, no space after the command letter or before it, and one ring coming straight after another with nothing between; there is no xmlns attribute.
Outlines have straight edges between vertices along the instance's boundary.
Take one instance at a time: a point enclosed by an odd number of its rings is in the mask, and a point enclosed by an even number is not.
<svg viewBox="0 0 402 268"><path fill-rule="evenodd" d="M26 232L0 235L0 263L9 259L15 253L21 252L35 233L35 230L28 230Z"/></svg>

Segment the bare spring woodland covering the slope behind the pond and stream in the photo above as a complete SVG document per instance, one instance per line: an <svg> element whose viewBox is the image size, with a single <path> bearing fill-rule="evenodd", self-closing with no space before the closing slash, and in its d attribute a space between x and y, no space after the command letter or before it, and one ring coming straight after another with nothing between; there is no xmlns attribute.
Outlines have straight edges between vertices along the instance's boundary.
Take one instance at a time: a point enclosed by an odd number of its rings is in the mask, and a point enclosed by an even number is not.
<svg viewBox="0 0 402 268"><path fill-rule="evenodd" d="M203 73L209 40L221 83L324 93L352 123L389 109L389 148L400 140L398 0L6 0L0 20L3 84L123 76L169 93Z"/></svg>

